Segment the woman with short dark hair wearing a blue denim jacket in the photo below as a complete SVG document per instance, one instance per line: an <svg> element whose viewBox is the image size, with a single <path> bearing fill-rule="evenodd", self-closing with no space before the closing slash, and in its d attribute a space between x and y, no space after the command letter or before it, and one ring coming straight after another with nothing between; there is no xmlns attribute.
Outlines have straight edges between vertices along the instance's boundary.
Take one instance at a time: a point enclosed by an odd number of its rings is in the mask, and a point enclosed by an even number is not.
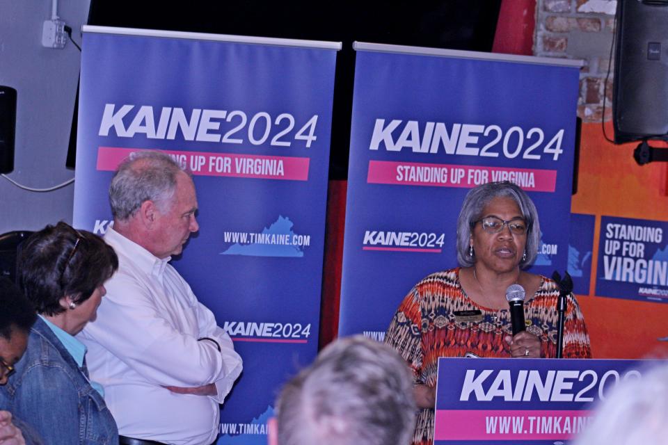
<svg viewBox="0 0 668 445"><path fill-rule="evenodd" d="M47 225L22 245L19 286L37 309L15 378L0 405L29 423L47 444L118 444L102 387L88 379L86 347L74 336L106 293L118 257L102 238L65 223Z"/></svg>

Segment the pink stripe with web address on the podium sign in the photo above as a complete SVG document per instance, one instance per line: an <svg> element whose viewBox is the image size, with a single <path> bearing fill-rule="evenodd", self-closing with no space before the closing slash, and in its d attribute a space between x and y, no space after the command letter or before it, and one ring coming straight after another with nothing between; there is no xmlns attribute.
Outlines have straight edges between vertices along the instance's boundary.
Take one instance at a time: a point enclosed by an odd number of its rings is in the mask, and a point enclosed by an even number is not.
<svg viewBox="0 0 668 445"><path fill-rule="evenodd" d="M434 439L570 439L589 419L589 410L437 410Z"/></svg>

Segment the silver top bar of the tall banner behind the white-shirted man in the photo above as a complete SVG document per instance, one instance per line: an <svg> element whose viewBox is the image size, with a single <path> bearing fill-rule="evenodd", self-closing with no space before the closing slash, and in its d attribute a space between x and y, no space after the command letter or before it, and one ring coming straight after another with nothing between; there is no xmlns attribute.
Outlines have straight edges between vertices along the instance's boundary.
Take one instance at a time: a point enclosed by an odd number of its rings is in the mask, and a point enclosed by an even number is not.
<svg viewBox="0 0 668 445"><path fill-rule="evenodd" d="M249 44L269 44L278 47L306 47L319 49L342 48L341 42L326 42L324 40L299 40L269 37L254 37L251 35L229 35L210 33L189 33L184 31L164 31L160 29L138 29L138 28L116 28L113 26L81 26L84 33L119 34L119 35L141 35L144 37L180 38L191 40L214 40L216 42L233 42Z"/></svg>

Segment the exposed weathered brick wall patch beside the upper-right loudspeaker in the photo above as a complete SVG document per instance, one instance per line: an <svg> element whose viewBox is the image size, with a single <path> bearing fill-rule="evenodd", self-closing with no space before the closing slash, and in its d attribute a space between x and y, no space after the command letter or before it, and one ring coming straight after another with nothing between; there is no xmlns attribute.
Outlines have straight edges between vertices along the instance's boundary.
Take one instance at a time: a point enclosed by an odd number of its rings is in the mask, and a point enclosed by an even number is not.
<svg viewBox="0 0 668 445"><path fill-rule="evenodd" d="M607 88L605 76L616 9L616 0L536 0L534 55L584 61L578 97L583 122L601 122L604 91L605 120L612 117L614 65L610 65Z"/></svg>

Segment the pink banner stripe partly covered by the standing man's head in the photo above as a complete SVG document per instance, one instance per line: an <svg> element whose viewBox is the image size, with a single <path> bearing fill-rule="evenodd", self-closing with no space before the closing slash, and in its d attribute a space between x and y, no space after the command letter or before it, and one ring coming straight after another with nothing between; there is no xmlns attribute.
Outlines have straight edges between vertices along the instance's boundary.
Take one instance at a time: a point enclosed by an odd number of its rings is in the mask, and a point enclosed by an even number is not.
<svg viewBox="0 0 668 445"><path fill-rule="evenodd" d="M118 164L141 148L99 147L97 170L113 171ZM255 179L307 181L310 159L290 156L257 156L253 154L180 152L162 150L187 167L196 176L227 176Z"/></svg>

